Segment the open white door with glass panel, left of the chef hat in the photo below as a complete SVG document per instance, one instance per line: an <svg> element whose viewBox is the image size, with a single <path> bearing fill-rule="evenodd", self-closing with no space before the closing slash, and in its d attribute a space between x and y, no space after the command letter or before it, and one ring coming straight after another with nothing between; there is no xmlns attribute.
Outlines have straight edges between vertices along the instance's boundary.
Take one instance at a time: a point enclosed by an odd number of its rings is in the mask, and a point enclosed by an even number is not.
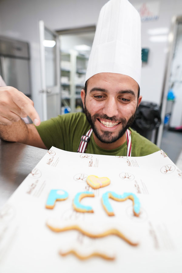
<svg viewBox="0 0 182 273"><path fill-rule="evenodd" d="M59 37L39 21L43 120L60 114Z"/></svg>

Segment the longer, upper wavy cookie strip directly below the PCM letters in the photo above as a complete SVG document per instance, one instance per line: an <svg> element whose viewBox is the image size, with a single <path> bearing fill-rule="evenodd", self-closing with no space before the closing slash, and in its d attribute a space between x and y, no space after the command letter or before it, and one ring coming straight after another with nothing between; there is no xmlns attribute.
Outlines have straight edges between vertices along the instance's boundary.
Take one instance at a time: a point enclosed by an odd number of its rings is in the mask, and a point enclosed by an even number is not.
<svg viewBox="0 0 182 273"><path fill-rule="evenodd" d="M81 221L61 220L57 224L55 223L55 220L53 221L49 220L47 221L46 225L54 232L62 232L66 230L78 230L82 234L91 238L101 238L101 237L106 237L109 235L116 235L132 246L138 245L138 243L132 242L122 233L120 225L118 225L118 227L115 228L113 227L112 223L106 223L105 225L103 225L103 223L101 225L98 225L98 223L96 223L94 227L93 223L86 223ZM107 228L105 228L105 226L107 226Z"/></svg>

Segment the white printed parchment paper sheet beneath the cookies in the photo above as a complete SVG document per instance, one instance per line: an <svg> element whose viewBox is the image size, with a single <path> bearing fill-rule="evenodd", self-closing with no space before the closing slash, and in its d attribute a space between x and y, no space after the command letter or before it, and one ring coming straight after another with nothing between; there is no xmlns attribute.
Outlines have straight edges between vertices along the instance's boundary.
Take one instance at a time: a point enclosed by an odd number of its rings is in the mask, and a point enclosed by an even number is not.
<svg viewBox="0 0 182 273"><path fill-rule="evenodd" d="M108 177L109 186L92 189L88 175ZM45 203L51 189L69 193L53 210ZM94 213L73 210L78 192L95 197L81 202ZM109 217L101 203L102 194L132 192L140 199L141 213L133 215L131 200L110 200L115 216ZM56 233L53 225L74 221L106 230L111 225L137 247L114 235L100 239L76 230ZM115 261L92 258L80 261L62 257L59 251L76 245L112 252ZM119 157L66 152L52 147L9 198L0 212L0 272L182 272L182 172L161 150L143 157Z"/></svg>

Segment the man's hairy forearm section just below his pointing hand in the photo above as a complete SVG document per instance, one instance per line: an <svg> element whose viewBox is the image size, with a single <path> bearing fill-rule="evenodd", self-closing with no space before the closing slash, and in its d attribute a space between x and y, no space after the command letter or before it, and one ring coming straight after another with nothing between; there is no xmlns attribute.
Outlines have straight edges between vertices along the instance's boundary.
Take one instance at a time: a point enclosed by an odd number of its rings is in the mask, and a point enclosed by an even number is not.
<svg viewBox="0 0 182 273"><path fill-rule="evenodd" d="M27 138L28 128L22 119L12 123L12 125L0 124L0 139L11 142L25 143Z"/></svg>

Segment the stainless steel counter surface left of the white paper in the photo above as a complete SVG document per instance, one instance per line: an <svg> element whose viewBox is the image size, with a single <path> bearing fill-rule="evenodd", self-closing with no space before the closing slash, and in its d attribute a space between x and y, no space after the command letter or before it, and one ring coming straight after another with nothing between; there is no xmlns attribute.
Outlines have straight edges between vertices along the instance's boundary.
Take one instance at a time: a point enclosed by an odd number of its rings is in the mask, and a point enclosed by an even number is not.
<svg viewBox="0 0 182 273"><path fill-rule="evenodd" d="M0 207L46 152L41 148L0 140Z"/></svg>

